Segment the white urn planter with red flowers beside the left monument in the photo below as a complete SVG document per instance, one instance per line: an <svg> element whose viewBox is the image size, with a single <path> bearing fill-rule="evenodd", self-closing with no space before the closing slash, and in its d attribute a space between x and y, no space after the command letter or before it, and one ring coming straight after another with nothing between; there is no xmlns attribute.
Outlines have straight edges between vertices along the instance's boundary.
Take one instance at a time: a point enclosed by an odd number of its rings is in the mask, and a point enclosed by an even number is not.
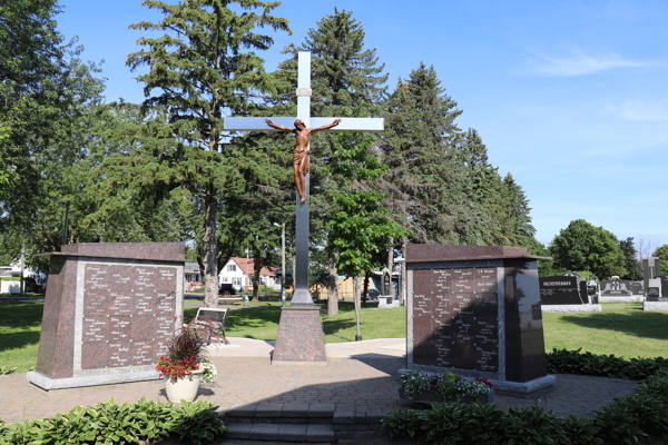
<svg viewBox="0 0 668 445"><path fill-rule="evenodd" d="M167 355L160 357L156 369L165 377L165 393L170 402L193 402L199 382L213 382L216 367L206 358L205 346L218 334L219 323L208 317L196 317L177 329L167 343Z"/></svg>

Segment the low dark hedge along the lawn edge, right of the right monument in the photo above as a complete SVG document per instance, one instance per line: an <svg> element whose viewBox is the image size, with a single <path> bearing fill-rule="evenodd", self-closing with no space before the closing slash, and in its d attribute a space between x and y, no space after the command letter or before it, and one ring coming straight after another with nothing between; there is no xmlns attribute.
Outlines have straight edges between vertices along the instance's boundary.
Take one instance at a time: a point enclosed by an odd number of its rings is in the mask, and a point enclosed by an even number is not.
<svg viewBox="0 0 668 445"><path fill-rule="evenodd" d="M625 360L615 355L580 354L581 349L552 349L550 354L546 354L548 372L644 380L659 369L668 369L668 359L664 357Z"/></svg>

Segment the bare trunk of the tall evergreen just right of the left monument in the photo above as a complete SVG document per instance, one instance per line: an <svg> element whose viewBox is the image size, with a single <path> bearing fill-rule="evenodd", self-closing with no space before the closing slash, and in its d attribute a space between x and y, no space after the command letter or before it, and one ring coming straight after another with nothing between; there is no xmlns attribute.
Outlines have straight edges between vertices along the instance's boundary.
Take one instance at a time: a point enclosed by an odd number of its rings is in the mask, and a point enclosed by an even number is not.
<svg viewBox="0 0 668 445"><path fill-rule="evenodd" d="M204 306L218 305L218 199L209 182L204 197Z"/></svg>

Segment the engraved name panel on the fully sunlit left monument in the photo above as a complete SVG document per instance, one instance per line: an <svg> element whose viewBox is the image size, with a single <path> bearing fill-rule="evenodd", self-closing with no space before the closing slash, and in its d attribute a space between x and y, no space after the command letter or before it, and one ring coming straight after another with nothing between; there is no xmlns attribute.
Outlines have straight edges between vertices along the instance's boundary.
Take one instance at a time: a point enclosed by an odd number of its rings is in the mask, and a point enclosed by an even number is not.
<svg viewBox="0 0 668 445"><path fill-rule="evenodd" d="M155 364L174 330L176 285L171 267L86 265L81 368Z"/></svg>

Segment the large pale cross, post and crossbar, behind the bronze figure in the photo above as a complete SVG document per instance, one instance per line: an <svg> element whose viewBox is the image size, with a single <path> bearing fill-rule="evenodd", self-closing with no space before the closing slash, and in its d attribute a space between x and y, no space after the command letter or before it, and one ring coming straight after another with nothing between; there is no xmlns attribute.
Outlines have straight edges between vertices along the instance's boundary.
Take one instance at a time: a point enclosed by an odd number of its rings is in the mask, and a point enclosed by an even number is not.
<svg viewBox="0 0 668 445"><path fill-rule="evenodd" d="M382 118L312 118L311 117L311 52L299 51L298 53L298 77L297 77L297 116L296 117L271 117L271 118L226 118L224 128L228 131L278 131L269 127L266 119L283 127L293 128L295 119L302 119L306 128L316 128L332 123L335 119L341 119L338 126L327 131L382 131ZM311 149L311 144L308 145ZM313 299L308 293L308 189L310 174L304 178L306 202L299 204L298 194L296 195L296 265L295 265L295 291L291 306L313 305Z"/></svg>

